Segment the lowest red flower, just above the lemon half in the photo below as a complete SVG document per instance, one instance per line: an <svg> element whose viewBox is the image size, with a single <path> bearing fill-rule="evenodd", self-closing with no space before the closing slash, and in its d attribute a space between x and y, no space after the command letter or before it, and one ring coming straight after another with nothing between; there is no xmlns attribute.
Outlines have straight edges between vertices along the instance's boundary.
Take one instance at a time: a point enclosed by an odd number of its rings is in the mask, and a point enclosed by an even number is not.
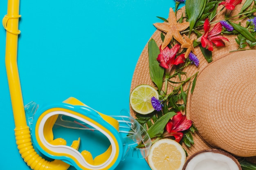
<svg viewBox="0 0 256 170"><path fill-rule="evenodd" d="M177 112L177 115L173 116L173 119L169 120L166 124L166 132L163 133L163 137L175 137L175 141L180 142L183 137L182 131L191 127L192 121L186 119L186 115L182 115L181 112Z"/></svg>

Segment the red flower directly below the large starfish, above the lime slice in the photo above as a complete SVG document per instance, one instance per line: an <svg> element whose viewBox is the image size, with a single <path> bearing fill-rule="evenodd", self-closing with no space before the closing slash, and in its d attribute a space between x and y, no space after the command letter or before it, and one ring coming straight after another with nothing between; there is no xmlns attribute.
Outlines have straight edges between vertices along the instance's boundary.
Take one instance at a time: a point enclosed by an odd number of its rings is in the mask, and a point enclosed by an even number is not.
<svg viewBox="0 0 256 170"><path fill-rule="evenodd" d="M168 46L166 46L163 50L161 49L161 46L159 47L160 54L157 57L157 61L159 62L159 65L166 69L165 75L170 75L171 68L173 65L182 64L185 62L185 55L181 54L178 57L175 58L177 52L180 49L179 44L175 44L171 49L169 49Z"/></svg>

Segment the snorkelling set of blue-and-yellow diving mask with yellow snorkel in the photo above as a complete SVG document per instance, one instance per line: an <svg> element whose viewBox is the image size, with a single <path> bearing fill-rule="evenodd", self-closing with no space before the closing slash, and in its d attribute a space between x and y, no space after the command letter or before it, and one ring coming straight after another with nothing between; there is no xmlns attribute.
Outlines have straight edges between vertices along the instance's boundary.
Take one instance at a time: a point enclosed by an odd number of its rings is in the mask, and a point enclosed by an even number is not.
<svg viewBox="0 0 256 170"><path fill-rule="evenodd" d="M127 156L147 157L151 146L150 138L146 130L132 117L104 115L74 97L39 108L34 102L24 107L17 65L20 17L19 0L8 0L7 15L3 18L6 29L5 64L16 144L27 165L33 170L67 170L70 165L78 170L113 170ZM73 140L72 144L61 137L54 138L54 126L85 131L89 127L89 130L104 135L110 144L105 152L93 157L88 150L79 150L80 137ZM42 158L35 151L32 141L36 149L54 161ZM145 148L136 148L141 142Z"/></svg>

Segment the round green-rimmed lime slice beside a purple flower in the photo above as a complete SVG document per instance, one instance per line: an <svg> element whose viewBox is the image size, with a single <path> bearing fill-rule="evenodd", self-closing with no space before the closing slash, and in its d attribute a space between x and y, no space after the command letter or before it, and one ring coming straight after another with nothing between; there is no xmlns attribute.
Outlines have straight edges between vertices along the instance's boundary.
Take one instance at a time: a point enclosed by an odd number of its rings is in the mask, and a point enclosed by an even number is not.
<svg viewBox="0 0 256 170"><path fill-rule="evenodd" d="M159 99L157 90L152 86L142 84L135 87L130 94L130 105L132 109L142 115L152 113L155 109L151 104L151 98Z"/></svg>

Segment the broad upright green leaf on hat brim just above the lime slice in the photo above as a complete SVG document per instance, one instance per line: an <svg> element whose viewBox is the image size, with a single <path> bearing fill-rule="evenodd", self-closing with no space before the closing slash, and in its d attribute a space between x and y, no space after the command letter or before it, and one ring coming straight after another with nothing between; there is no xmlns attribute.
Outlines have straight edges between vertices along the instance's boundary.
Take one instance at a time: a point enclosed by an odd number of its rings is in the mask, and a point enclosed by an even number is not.
<svg viewBox="0 0 256 170"><path fill-rule="evenodd" d="M157 62L157 56L159 54L160 50L155 40L151 39L148 42L149 73L151 80L157 85L158 91L161 91L163 85L164 68L159 66L159 62Z"/></svg>

